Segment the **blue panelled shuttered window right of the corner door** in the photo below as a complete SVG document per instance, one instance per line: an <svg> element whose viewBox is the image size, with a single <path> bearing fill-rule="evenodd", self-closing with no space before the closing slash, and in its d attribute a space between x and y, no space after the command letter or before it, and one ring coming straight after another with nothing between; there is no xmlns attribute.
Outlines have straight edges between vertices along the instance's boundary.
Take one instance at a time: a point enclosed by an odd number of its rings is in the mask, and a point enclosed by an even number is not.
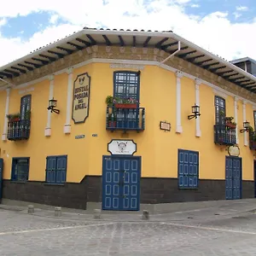
<svg viewBox="0 0 256 256"><path fill-rule="evenodd" d="M198 189L198 152L178 149L177 177L179 189Z"/></svg>

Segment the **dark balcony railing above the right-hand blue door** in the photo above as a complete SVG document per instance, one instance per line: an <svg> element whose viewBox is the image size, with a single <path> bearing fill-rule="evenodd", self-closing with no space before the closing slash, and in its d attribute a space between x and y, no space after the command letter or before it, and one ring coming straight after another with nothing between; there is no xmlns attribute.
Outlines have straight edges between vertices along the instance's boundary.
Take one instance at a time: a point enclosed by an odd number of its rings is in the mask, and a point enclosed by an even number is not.
<svg viewBox="0 0 256 256"><path fill-rule="evenodd" d="M226 125L214 125L214 143L220 145L236 144L236 128Z"/></svg>

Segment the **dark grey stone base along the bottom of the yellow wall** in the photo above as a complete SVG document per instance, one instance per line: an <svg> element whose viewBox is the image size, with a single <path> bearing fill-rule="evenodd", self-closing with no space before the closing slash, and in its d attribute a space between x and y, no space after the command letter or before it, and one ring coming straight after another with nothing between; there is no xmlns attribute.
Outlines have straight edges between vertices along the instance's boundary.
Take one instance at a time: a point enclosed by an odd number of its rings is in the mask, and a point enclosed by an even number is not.
<svg viewBox="0 0 256 256"><path fill-rule="evenodd" d="M86 176L81 183L49 185L3 181L3 198L50 206L86 209L87 202L102 201L102 177ZM254 182L242 181L242 198L254 198ZM224 180L199 181L199 189L178 189L177 178L141 178L141 203L225 200Z"/></svg>

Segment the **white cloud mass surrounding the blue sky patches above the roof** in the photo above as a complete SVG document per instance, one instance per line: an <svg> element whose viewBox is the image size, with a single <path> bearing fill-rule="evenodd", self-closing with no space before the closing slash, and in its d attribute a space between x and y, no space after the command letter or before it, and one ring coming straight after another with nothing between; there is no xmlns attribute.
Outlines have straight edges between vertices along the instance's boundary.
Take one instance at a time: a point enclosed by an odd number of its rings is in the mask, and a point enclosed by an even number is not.
<svg viewBox="0 0 256 256"><path fill-rule="evenodd" d="M26 42L16 35L12 39L3 38L0 33L0 66L28 54L33 49L64 38L83 26L172 30L225 59L244 56L256 59L256 36L252 33L256 31L256 19L252 23L232 24L228 13L215 12L201 18L187 15L184 5L189 2L151 0L145 6L145 0L105 0L104 4L102 0L76 0L76 4L72 5L59 4L52 0L23 0L22 3L15 3L15 8L11 2L6 2L4 10L0 9L0 24L4 17L28 15L35 11L49 11L52 16L49 26L44 31L39 27L38 32ZM125 13L129 15L124 15ZM67 20L69 24L56 26L57 18Z"/></svg>

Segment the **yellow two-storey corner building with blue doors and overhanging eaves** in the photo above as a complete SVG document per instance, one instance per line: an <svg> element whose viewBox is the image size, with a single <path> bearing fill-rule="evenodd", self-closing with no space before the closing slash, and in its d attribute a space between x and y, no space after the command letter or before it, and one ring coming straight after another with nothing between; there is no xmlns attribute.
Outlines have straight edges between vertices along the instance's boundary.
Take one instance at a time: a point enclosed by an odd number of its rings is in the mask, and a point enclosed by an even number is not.
<svg viewBox="0 0 256 256"><path fill-rule="evenodd" d="M84 28L0 79L3 198L137 211L254 197L256 78L173 32Z"/></svg>

